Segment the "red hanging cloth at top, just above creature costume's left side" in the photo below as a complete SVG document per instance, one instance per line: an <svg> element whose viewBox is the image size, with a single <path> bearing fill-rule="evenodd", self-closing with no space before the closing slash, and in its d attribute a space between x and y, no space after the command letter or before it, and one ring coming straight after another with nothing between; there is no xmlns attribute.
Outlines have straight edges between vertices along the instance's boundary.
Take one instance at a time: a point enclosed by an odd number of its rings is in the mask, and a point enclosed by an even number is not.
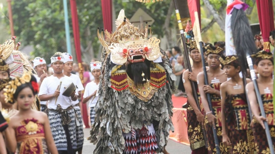
<svg viewBox="0 0 275 154"><path fill-rule="evenodd" d="M104 29L112 32L112 0L101 0Z"/></svg>

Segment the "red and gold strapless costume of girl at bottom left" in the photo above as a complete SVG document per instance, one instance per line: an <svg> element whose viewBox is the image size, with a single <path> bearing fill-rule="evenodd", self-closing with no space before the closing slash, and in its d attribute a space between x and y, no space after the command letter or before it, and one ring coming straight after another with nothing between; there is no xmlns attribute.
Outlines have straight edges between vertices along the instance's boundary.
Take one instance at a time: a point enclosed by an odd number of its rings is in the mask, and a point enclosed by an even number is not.
<svg viewBox="0 0 275 154"><path fill-rule="evenodd" d="M44 126L36 119L25 119L15 129L18 154L49 153L45 140Z"/></svg>

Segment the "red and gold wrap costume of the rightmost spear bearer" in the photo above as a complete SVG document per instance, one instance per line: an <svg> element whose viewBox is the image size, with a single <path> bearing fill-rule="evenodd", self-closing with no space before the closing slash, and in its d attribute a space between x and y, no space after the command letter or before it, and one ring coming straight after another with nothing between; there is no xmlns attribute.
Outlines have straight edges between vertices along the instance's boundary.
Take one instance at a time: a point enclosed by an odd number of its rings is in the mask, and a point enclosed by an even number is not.
<svg viewBox="0 0 275 154"><path fill-rule="evenodd" d="M261 98L263 101L264 112L267 118L269 132L270 132L271 139L274 146L275 145L275 122L274 122L274 114L273 114L273 95L263 94L261 95ZM255 148L257 153L269 153L270 149L267 144L265 130L255 118L253 119L253 122L254 122L253 134L255 138Z"/></svg>

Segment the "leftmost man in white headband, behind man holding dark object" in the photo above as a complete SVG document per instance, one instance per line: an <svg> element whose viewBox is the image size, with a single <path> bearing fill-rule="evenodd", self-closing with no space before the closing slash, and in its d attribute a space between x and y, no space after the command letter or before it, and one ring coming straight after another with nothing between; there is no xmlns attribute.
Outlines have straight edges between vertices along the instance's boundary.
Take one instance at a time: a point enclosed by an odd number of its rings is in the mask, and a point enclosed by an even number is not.
<svg viewBox="0 0 275 154"><path fill-rule="evenodd" d="M37 73L37 75L34 75L36 78L37 83L39 84L39 87L42 83L42 81L48 77L47 72L47 64L44 58L41 57L35 57L33 60L34 63L34 69ZM45 112L48 115L48 108L46 106L47 101L40 101L40 111Z"/></svg>

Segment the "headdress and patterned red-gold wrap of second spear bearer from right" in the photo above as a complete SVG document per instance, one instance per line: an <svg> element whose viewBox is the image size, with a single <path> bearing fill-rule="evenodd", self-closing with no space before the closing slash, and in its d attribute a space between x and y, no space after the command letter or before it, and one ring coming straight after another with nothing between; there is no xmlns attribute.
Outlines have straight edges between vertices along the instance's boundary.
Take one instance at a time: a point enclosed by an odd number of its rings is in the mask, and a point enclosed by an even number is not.
<svg viewBox="0 0 275 154"><path fill-rule="evenodd" d="M235 55L219 58L222 65L240 66ZM254 153L254 136L250 127L251 119L248 101L244 93L227 95L225 100L227 135L231 140L231 153Z"/></svg>

